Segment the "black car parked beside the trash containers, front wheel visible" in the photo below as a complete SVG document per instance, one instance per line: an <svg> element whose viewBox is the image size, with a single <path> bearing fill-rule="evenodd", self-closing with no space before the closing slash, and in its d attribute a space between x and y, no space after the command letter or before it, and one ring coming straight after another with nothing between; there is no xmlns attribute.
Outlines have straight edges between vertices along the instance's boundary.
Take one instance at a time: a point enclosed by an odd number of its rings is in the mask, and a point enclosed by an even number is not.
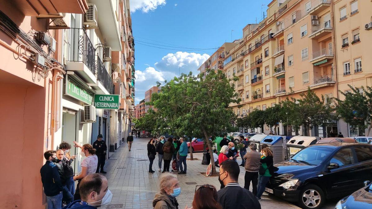
<svg viewBox="0 0 372 209"><path fill-rule="evenodd" d="M372 145L314 144L275 167L265 191L301 208L317 209L326 199L349 195L372 180Z"/></svg>

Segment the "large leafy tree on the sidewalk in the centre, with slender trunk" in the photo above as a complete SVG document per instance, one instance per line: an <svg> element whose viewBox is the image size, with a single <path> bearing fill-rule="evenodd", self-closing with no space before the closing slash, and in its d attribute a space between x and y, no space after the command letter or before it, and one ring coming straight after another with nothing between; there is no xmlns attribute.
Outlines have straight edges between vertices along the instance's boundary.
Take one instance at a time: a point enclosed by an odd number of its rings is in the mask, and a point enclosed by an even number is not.
<svg viewBox="0 0 372 209"><path fill-rule="evenodd" d="M240 103L233 84L237 79L228 79L221 70L207 69L198 77L182 74L165 83L160 93L153 94L151 105L164 123L180 135L201 134L205 139L218 136L234 129L236 116L229 104ZM206 144L214 162L211 142L206 140ZM212 163L212 176L216 175Z"/></svg>

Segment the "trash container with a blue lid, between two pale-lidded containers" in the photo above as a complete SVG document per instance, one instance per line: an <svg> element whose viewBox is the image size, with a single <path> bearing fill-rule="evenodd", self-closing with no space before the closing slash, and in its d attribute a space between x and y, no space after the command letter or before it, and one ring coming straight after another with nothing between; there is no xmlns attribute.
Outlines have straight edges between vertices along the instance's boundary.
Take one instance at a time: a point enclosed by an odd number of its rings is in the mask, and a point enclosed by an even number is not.
<svg viewBox="0 0 372 209"><path fill-rule="evenodd" d="M267 144L269 146L273 151L274 164L277 164L288 159L287 142L286 136L268 135L262 139L260 144Z"/></svg>

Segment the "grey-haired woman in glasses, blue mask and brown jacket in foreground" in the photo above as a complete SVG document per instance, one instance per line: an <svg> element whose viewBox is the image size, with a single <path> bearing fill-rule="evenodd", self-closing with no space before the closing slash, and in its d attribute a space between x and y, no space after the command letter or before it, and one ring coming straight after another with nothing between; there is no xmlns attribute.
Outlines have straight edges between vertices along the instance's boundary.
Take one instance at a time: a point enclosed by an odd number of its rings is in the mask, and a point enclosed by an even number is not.
<svg viewBox="0 0 372 209"><path fill-rule="evenodd" d="M171 173L163 173L159 181L160 192L155 194L154 209L178 209L176 197L181 193L181 187L177 176Z"/></svg>

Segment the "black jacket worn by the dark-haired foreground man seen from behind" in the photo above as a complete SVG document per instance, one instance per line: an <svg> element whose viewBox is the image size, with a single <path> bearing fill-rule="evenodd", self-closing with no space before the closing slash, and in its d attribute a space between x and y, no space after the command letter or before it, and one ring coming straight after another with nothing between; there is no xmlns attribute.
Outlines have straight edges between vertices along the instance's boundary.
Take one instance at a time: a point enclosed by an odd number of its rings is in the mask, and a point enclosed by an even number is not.
<svg viewBox="0 0 372 209"><path fill-rule="evenodd" d="M238 183L228 183L225 188L218 190L217 196L223 209L261 209L257 197Z"/></svg>

